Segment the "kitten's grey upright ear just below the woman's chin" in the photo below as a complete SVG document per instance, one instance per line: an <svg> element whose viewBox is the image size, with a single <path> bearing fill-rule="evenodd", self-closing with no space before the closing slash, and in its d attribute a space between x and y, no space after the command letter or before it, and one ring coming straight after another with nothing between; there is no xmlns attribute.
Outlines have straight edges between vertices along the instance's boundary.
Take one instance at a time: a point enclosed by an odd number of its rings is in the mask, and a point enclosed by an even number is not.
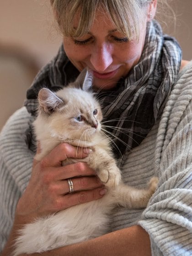
<svg viewBox="0 0 192 256"><path fill-rule="evenodd" d="M80 75L78 75L73 86L76 88L81 88L83 91L89 91L91 89L92 82L92 72L91 70L85 68L80 72Z"/></svg>

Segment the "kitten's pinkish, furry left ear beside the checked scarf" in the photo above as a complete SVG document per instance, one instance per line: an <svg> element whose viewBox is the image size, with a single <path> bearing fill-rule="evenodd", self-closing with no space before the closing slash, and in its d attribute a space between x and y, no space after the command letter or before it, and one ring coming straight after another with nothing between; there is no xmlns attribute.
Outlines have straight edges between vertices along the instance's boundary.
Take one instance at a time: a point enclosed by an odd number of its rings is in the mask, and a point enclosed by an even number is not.
<svg viewBox="0 0 192 256"><path fill-rule="evenodd" d="M41 109L47 114L51 114L53 111L64 105L64 101L48 88L42 88L39 91L38 101Z"/></svg>

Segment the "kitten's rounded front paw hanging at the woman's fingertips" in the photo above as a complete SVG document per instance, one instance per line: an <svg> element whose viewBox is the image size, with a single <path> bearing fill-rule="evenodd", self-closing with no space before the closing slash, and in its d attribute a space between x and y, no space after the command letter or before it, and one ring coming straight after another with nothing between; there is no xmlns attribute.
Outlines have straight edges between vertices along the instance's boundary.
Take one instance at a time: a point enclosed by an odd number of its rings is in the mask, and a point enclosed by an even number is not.
<svg viewBox="0 0 192 256"><path fill-rule="evenodd" d="M98 173L98 177L106 187L116 187L121 181L121 172L116 167L112 170L102 170Z"/></svg>

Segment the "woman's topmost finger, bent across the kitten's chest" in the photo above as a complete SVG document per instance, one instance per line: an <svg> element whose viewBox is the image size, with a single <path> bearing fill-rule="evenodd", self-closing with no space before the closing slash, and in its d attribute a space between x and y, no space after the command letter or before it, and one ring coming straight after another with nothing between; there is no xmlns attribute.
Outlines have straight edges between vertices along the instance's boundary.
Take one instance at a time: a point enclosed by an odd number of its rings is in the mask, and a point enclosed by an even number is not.
<svg viewBox="0 0 192 256"><path fill-rule="evenodd" d="M67 158L85 158L90 152L90 149L76 148L67 143L61 143L43 158L43 162L47 166L56 167Z"/></svg>

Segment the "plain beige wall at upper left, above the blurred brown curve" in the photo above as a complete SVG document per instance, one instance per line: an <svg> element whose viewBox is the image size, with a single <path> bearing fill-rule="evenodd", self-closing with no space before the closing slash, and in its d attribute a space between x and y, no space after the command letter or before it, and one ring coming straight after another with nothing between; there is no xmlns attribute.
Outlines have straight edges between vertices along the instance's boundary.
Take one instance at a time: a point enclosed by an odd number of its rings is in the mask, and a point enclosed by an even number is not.
<svg viewBox="0 0 192 256"><path fill-rule="evenodd" d="M52 58L60 42L52 25L49 0L0 0L0 42L29 50L39 65Z"/></svg>

